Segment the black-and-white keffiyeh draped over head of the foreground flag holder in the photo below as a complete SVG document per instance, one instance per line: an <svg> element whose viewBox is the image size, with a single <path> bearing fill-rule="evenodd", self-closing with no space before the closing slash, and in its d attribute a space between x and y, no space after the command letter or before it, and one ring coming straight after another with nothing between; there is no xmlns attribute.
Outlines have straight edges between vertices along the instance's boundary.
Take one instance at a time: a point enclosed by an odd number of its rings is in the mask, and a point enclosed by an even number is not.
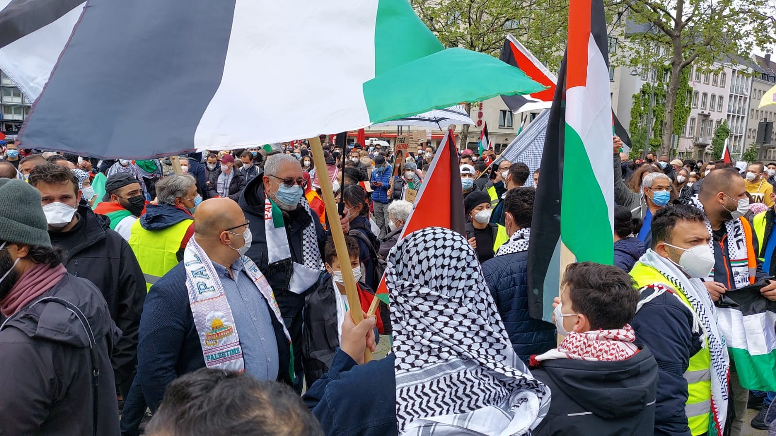
<svg viewBox="0 0 776 436"><path fill-rule="evenodd" d="M386 285L400 434L527 434L541 422L549 389L515 355L464 237L429 227L400 240Z"/></svg>

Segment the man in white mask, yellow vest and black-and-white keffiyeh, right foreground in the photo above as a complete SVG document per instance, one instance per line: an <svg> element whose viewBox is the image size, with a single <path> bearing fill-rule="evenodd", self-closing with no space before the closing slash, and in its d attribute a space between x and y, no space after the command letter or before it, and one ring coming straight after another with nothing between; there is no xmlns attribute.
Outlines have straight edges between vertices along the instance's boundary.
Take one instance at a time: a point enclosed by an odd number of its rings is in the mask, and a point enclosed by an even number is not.
<svg viewBox="0 0 776 436"><path fill-rule="evenodd" d="M652 246L630 272L641 292L631 322L636 343L650 348L658 362L655 434L722 434L733 407L728 351L712 301L725 289L702 282L715 266L711 246L717 244L707 222L701 209L689 205L658 210Z"/></svg>

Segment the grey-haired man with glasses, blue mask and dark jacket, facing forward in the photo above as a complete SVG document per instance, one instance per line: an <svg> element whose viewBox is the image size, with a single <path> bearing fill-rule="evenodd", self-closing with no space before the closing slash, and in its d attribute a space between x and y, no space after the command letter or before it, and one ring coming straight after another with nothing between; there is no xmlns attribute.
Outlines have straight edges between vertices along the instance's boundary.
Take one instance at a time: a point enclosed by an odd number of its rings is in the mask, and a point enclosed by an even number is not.
<svg viewBox="0 0 776 436"><path fill-rule="evenodd" d="M293 155L275 154L267 158L264 172L248 183L237 201L253 233L248 258L272 286L294 344L295 387L300 392L304 296L315 289L325 272L320 254L327 237L317 213L307 204L306 186L299 161ZM340 222L347 234L348 220Z"/></svg>

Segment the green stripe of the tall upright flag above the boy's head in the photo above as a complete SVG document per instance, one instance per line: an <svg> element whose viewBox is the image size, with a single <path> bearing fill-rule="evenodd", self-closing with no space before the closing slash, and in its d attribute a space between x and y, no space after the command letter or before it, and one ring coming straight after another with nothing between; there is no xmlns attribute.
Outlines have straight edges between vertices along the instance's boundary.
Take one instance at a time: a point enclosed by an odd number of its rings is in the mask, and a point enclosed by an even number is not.
<svg viewBox="0 0 776 436"><path fill-rule="evenodd" d="M609 209L582 138L566 123L560 235L577 261L614 263Z"/></svg>

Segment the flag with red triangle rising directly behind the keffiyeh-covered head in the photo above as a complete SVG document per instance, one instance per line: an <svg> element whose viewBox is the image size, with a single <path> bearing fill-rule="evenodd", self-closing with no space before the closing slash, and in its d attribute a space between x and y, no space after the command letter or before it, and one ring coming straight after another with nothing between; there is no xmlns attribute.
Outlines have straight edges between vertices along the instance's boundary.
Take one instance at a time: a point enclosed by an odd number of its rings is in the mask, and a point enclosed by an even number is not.
<svg viewBox="0 0 776 436"><path fill-rule="evenodd" d="M463 213L463 191L460 188L461 171L458 166L457 150L456 142L448 130L434 154L434 160L431 161L426 178L421 184L421 191L417 192L414 209L407 218L407 223L404 224L399 240L415 230L426 227L445 227L466 236L466 216ZM375 295L388 303L385 275L380 280Z"/></svg>

